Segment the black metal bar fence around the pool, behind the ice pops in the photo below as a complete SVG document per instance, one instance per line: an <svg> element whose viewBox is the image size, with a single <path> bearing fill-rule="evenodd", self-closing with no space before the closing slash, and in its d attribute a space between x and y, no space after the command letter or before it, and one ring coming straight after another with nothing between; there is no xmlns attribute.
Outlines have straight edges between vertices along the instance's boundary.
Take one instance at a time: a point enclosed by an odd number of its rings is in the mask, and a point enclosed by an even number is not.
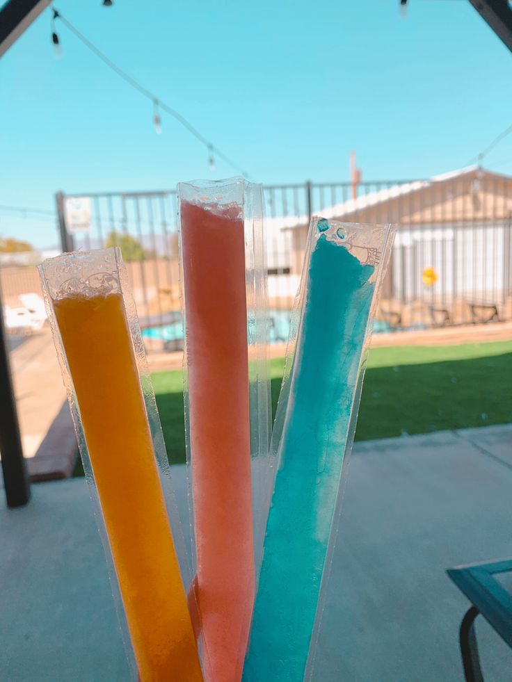
<svg viewBox="0 0 512 682"><path fill-rule="evenodd" d="M511 177L470 168L431 180L266 186L264 196L271 340L286 336L314 213L399 225L377 331L512 318ZM85 225L70 222L72 202L88 211ZM57 206L65 247L121 246L148 345L179 347L175 191L59 195Z"/></svg>

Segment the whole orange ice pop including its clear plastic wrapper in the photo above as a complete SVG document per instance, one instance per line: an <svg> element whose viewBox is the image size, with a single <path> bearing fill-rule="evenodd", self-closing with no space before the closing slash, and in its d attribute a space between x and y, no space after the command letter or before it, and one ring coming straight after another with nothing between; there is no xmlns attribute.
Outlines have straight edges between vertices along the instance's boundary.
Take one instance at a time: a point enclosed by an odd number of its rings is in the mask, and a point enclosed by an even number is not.
<svg viewBox="0 0 512 682"><path fill-rule="evenodd" d="M132 679L199 682L189 560L120 251L39 270Z"/></svg>

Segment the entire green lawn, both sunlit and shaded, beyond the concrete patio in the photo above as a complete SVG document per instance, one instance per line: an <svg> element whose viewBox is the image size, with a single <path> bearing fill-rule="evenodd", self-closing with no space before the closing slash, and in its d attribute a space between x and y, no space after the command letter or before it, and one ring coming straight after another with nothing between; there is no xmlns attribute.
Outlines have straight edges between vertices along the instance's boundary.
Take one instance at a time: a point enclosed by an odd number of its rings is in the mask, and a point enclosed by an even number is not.
<svg viewBox="0 0 512 682"><path fill-rule="evenodd" d="M271 361L273 414L283 367L283 358ZM169 460L184 462L182 373L152 380ZM374 348L355 440L509 423L511 387L512 341Z"/></svg>

